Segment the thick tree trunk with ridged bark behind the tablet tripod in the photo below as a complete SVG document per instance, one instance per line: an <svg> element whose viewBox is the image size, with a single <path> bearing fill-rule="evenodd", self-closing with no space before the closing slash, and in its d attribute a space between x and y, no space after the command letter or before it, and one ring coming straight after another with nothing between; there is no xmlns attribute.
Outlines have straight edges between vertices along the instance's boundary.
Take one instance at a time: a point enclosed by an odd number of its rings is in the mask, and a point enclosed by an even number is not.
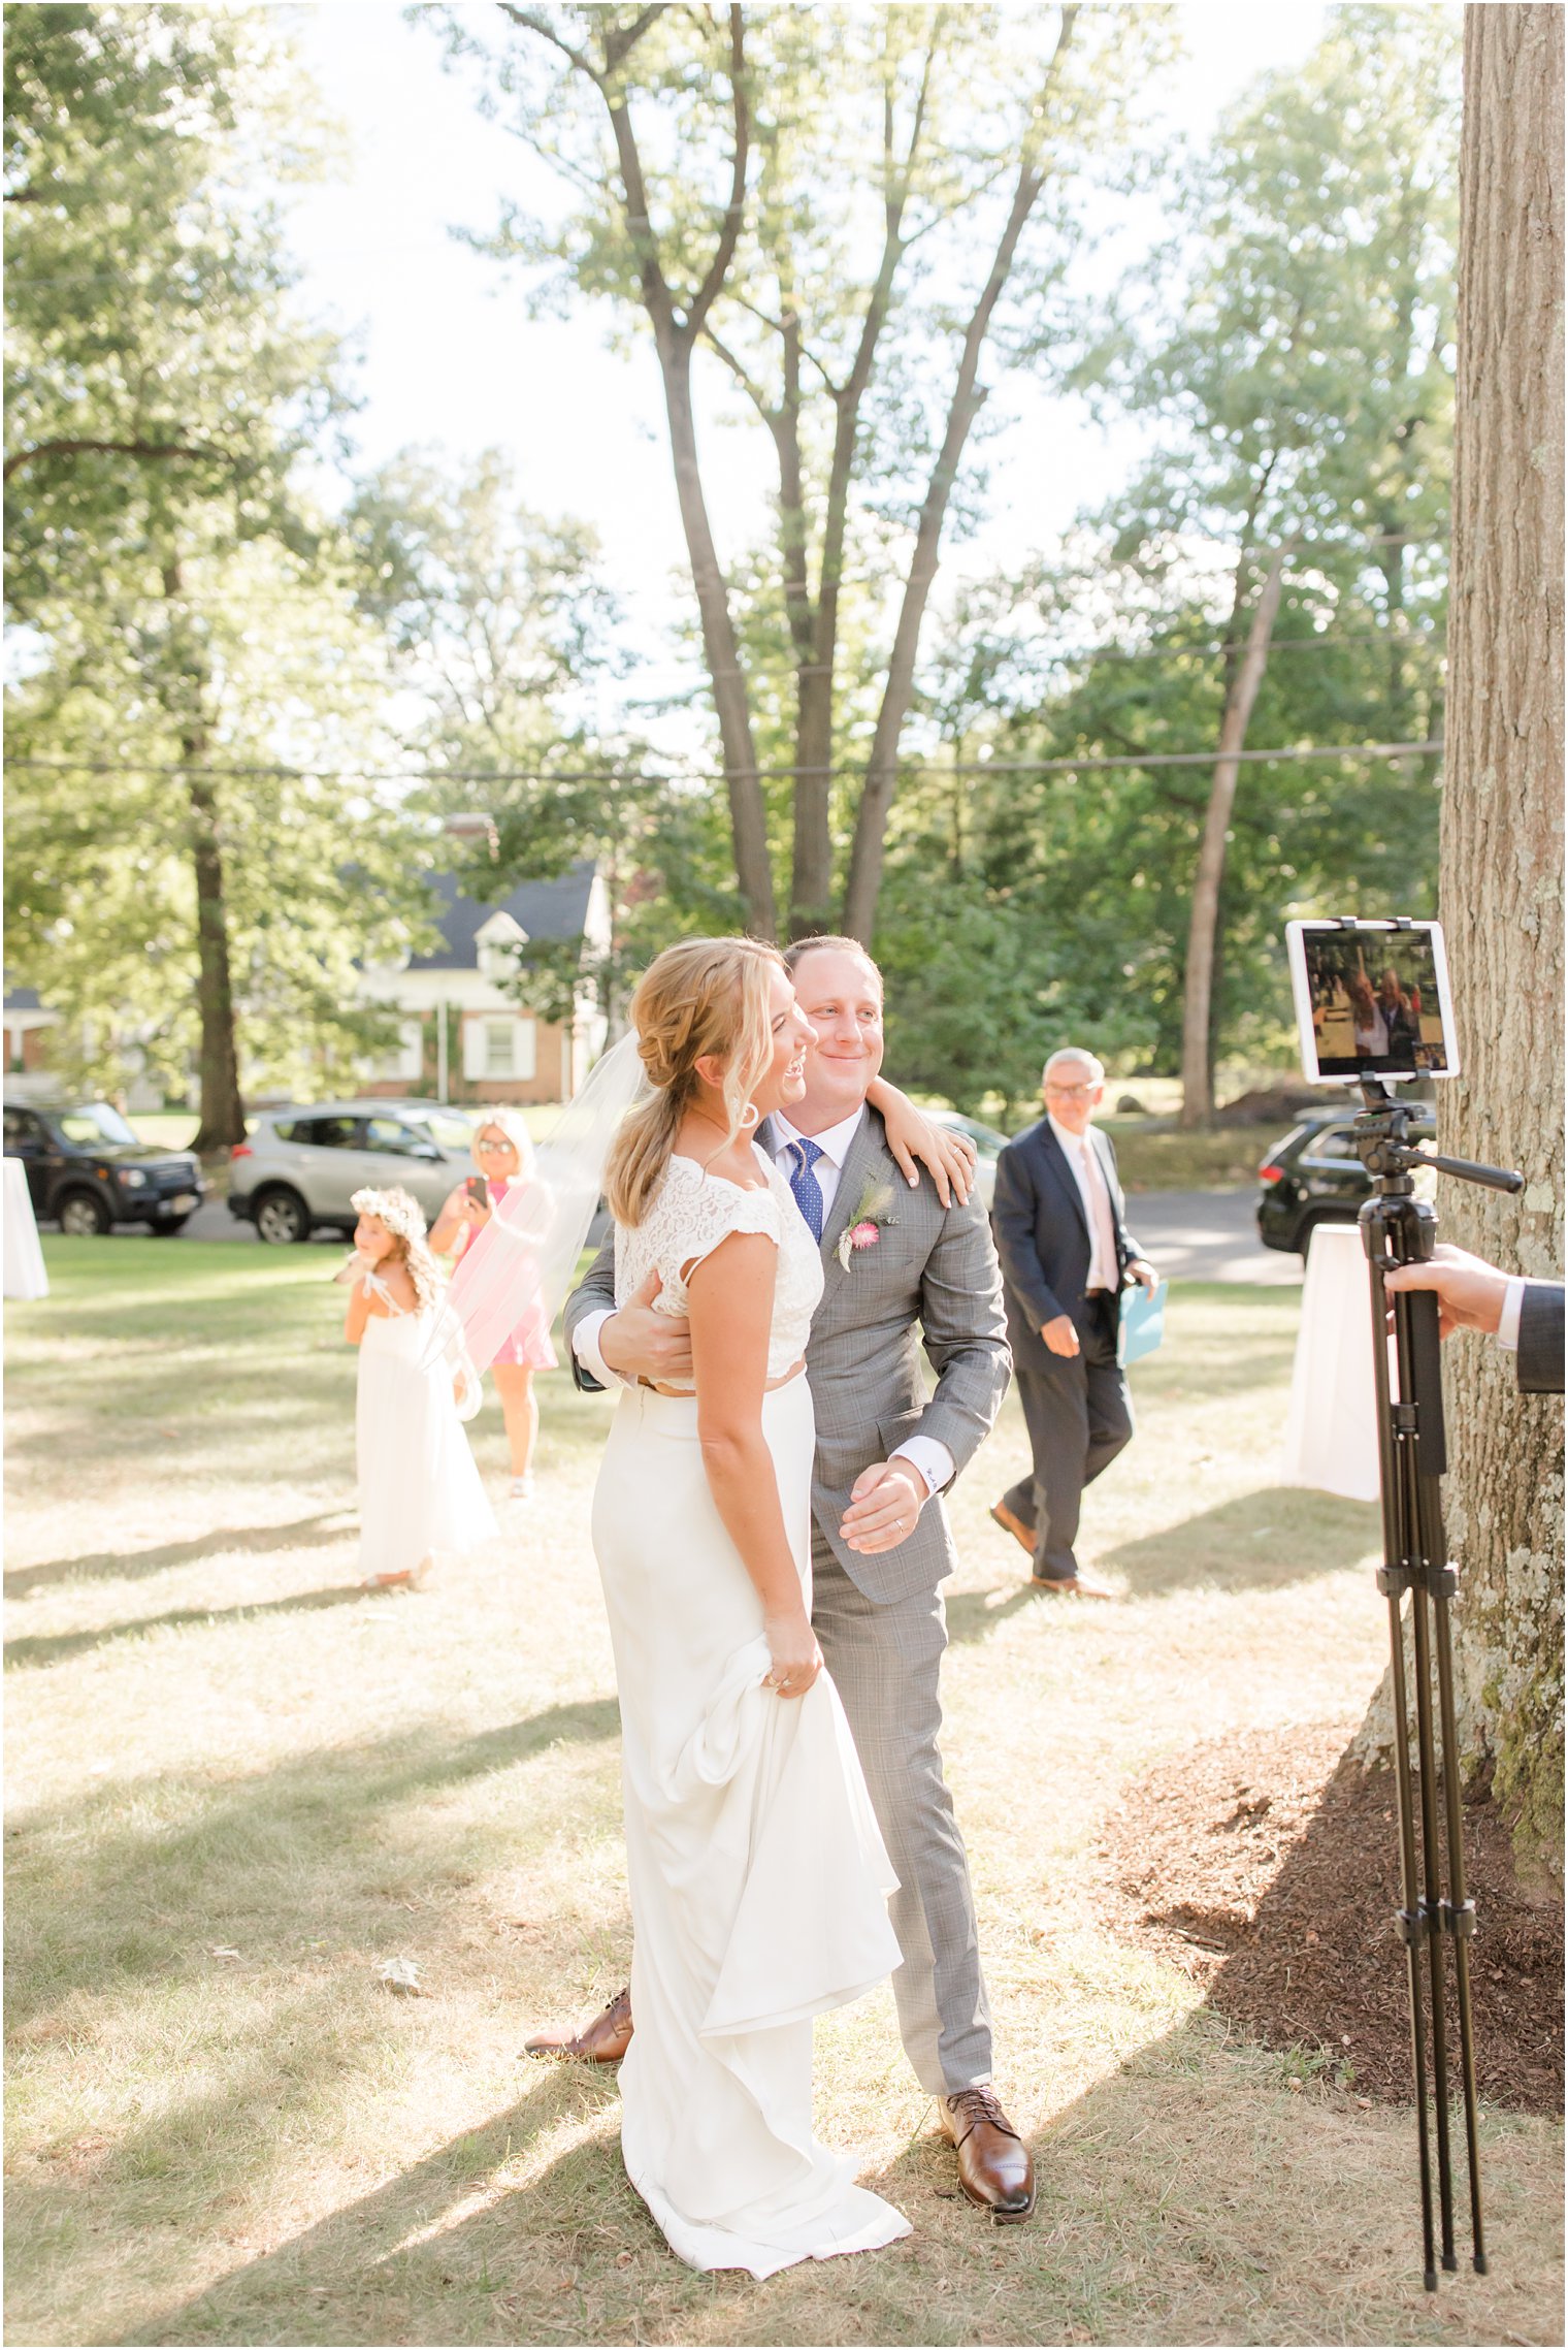
<svg viewBox="0 0 1568 2350"><path fill-rule="evenodd" d="M1439 1144L1528 1187L1439 1180L1439 1210L1444 1238L1523 1274L1563 1267L1561 155L1561 7L1467 7L1439 879L1462 1074ZM1563 1410L1498 1347L1446 1358L1465 1781L1507 1807L1521 1873L1561 1880ZM1387 1732L1385 1687L1361 1755Z"/></svg>

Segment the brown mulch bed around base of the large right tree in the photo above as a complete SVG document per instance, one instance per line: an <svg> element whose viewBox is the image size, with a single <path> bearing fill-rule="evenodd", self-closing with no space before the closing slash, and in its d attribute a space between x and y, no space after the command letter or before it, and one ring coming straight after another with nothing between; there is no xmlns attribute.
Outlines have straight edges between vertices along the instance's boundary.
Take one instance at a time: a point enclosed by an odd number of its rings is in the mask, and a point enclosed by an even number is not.
<svg viewBox="0 0 1568 2350"><path fill-rule="evenodd" d="M1101 1908L1251 2040L1317 2049L1347 2092L1408 2103L1394 1779L1340 1760L1352 1732L1251 1732L1162 1762L1106 1821ZM1481 2096L1561 2113L1561 1899L1519 1892L1507 1826L1486 1802L1465 1807L1465 1873ZM1458 2092L1453 1988L1448 2042Z"/></svg>

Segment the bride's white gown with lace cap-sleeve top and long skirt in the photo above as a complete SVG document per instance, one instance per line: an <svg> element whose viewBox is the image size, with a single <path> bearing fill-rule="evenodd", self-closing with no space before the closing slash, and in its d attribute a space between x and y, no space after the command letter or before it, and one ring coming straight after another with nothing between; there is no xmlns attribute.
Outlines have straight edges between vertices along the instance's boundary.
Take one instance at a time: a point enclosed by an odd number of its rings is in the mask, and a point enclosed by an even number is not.
<svg viewBox="0 0 1568 2350"><path fill-rule="evenodd" d="M768 1375L805 1354L822 1257L784 1177L758 1187L671 1159L641 1224L620 1229L624 1302L653 1269L685 1311L683 1271L730 1231L779 1243ZM763 1398L810 1605L812 1398ZM622 1713L631 2012L622 2155L692 2268L770 2277L793 2261L908 2235L854 2157L812 2136L812 2016L899 1965L894 1875L826 1673L800 1699L763 1687L763 1610L714 1506L695 1396L624 1389L594 1492Z"/></svg>

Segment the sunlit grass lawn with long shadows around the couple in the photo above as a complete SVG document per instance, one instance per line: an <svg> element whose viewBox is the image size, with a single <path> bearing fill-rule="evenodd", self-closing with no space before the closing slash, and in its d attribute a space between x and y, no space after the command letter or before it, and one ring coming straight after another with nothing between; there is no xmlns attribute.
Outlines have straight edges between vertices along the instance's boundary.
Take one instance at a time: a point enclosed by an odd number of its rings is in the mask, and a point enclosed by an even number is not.
<svg viewBox="0 0 1568 2350"><path fill-rule="evenodd" d="M758 2287L667 2254L613 2080L519 2059L627 1969L606 1403L547 1377L533 1509L366 1596L326 1262L45 1253L9 1316L12 2341L1561 2341L1554 2127L1483 2115L1493 2275L1427 2296L1408 2115L1237 2042L1091 1899L1129 1777L1376 1685L1376 1513L1272 1473L1296 1292L1176 1292L1087 1511L1122 1605L1019 1589L1012 1403L958 1490L946 1758L1033 2225L955 2195L880 1993L819 2030L819 2129L915 2232ZM474 1438L505 1490L493 1405Z"/></svg>

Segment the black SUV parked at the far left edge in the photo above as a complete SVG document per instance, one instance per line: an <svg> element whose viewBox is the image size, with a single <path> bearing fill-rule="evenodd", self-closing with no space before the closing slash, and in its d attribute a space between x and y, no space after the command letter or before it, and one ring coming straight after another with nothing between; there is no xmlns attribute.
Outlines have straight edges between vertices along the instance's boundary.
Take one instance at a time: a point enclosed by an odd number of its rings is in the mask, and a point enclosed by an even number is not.
<svg viewBox="0 0 1568 2350"><path fill-rule="evenodd" d="M153 1149L110 1102L7 1102L5 1156L28 1170L33 1215L73 1234L110 1224L181 1231L207 1191L190 1152Z"/></svg>

